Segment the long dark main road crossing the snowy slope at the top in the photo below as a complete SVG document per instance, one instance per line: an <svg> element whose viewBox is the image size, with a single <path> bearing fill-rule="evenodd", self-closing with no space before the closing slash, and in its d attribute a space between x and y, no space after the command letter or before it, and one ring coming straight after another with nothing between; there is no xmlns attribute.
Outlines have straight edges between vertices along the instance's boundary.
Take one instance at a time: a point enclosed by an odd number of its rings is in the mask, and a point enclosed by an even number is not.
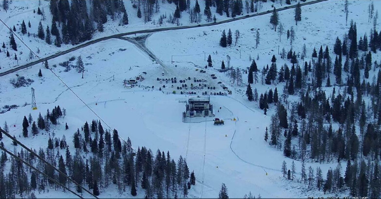
<svg viewBox="0 0 381 199"><path fill-rule="evenodd" d="M301 6L305 6L305 5L310 5L310 4L319 3L319 2L323 2L323 1L327 1L327 0L314 0L314 1L309 1L309 2L306 2L306 3L301 3L300 5ZM287 10L287 9L291 9L291 8L295 8L295 7L296 7L296 5L285 6L283 8L276 9L276 11L283 11L283 10ZM188 28L213 26L213 25L218 25L218 24L222 24L222 23L228 23L228 22L232 22L232 21L236 21L236 20L243 20L243 19L247 19L247 18L251 18L251 17L266 15L266 14L269 14L269 13L272 13L272 10L268 10L266 12L256 13L256 14L252 14L252 15L246 15L246 16L243 16L243 17L235 17L235 18L230 19L230 20L223 20L223 21L219 21L219 22L216 22L216 23L205 23L205 24L197 24L197 25L189 25L189 26L168 27L168 28L156 28L156 29L150 29L150 30L139 30L139 31L133 31L133 32L127 32L127 33L121 33L121 34L111 35L111 36L108 36L108 37L103 37L103 38L99 38L99 39L96 39L96 40L91 40L91 41L88 41L86 43L83 43L83 44L80 44L78 46L75 46L75 47L73 47L71 49L68 49L66 51L57 53L55 55L51 55L51 56L46 57L46 58L40 58L39 60L27 63L25 65L18 66L18 67L14 68L14 69L11 69L9 71L5 71L3 73L0 73L0 77L4 76L4 75L7 75L7 74L10 74L10 73L13 73L13 72L16 72L18 70L21 70L21 69L33 66L33 65L36 65L37 63L41 63L41 62L46 61L46 60L54 59L54 58L56 58L58 56L65 55L67 53L73 52L73 51L78 50L80 48L83 48L83 47L86 47L86 46L89 46L91 44L94 44L94 43L97 43L97 42L100 42L100 41L104 41L104 40L109 40L109 39L113 39L113 38L120 38L120 37L127 36L127 35L134 35L134 34L141 34L141 33L153 33L153 32L160 32L160 31L166 31L166 30L180 30L180 29L188 29Z"/></svg>

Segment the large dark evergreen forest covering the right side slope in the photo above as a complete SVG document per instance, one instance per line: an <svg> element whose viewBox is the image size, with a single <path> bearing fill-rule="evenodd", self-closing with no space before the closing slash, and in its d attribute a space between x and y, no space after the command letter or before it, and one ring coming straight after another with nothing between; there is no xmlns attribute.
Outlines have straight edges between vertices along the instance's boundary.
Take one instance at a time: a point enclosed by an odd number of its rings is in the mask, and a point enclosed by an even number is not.
<svg viewBox="0 0 381 199"><path fill-rule="evenodd" d="M377 16L374 18L377 20ZM290 60L291 67L284 64L280 70L275 56L271 66L262 70L252 60L246 91L248 100L258 101L264 114L269 107L276 109L266 129L265 141L283 150L286 157L302 160L301 179L308 183L308 188L316 186L325 193L348 189L352 197L380 197L381 61L372 60L372 54L381 50L380 33L375 22L370 39L365 33L357 40L356 22L351 21L343 39L336 37L333 53L328 46L320 46L319 50L313 49L311 60L305 61L306 45L301 55L290 49L286 56L283 49L280 57ZM332 77L335 81L330 80ZM268 85L285 82L285 86L258 94L256 88L254 92L252 89L255 84L250 85L257 82ZM324 88L332 86L331 92ZM299 96L299 101L289 101L290 95ZM305 160L347 162L345 176L341 175L338 164L324 179L320 168L314 173L310 167L307 172ZM287 171L286 165L282 165L282 170L285 178L294 178L294 165L292 172Z"/></svg>

